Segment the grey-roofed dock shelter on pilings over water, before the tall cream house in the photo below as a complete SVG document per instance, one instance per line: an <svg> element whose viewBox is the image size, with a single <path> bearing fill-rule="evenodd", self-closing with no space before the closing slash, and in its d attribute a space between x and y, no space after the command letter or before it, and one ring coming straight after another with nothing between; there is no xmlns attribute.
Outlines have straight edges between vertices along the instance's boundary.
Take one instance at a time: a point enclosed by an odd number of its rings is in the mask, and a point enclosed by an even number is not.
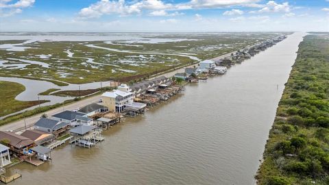
<svg viewBox="0 0 329 185"><path fill-rule="evenodd" d="M90 148L104 140L101 130L92 125L79 125L71 129L70 133L72 136L70 143L80 147Z"/></svg>

